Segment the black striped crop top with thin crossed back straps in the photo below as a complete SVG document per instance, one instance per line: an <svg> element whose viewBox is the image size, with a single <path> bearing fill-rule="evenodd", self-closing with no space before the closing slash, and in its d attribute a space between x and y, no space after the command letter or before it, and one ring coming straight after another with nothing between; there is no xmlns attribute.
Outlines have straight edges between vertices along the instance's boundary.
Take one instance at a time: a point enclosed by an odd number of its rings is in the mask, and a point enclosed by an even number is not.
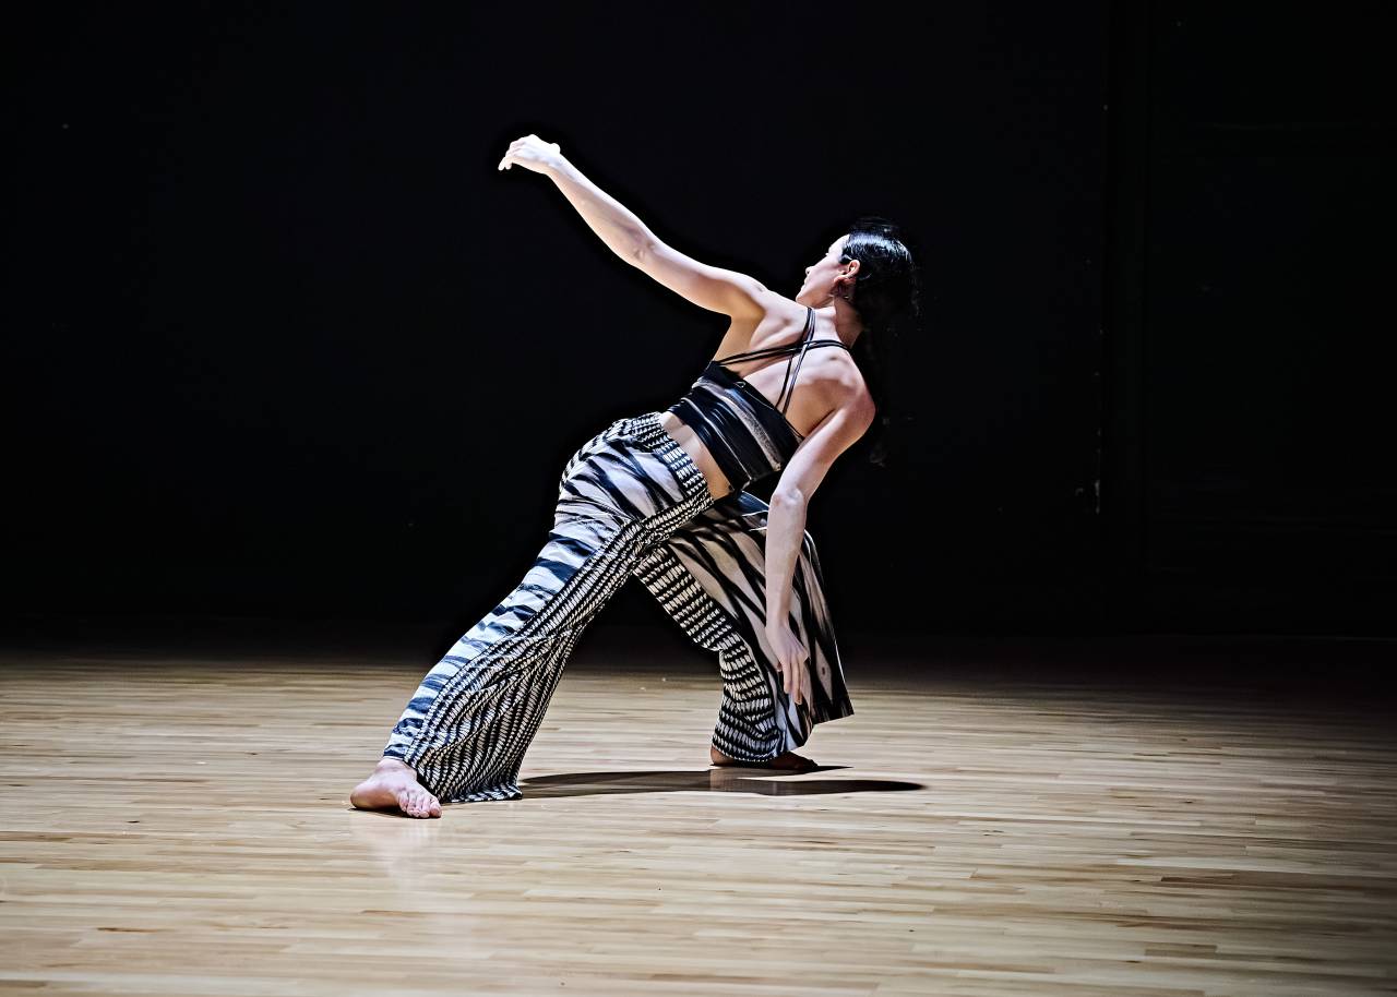
<svg viewBox="0 0 1397 997"><path fill-rule="evenodd" d="M780 471L805 438L785 418L805 352L814 346L848 349L838 339L813 339L814 309L806 306L806 313L799 341L710 360L689 392L668 409L693 427L733 492ZM787 376L774 405L724 366L788 353L791 360L787 362Z"/></svg>

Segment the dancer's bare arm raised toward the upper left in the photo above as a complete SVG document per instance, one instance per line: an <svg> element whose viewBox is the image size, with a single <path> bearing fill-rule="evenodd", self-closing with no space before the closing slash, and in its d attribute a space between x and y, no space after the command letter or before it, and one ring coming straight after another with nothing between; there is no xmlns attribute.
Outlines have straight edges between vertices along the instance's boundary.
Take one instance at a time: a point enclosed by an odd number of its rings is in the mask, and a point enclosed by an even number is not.
<svg viewBox="0 0 1397 997"><path fill-rule="evenodd" d="M514 163L550 177L583 221L622 260L638 268L680 297L725 316L760 316L770 296L759 281L733 269L711 267L664 243L620 201L604 191L569 162L556 142L538 135L515 140L499 169Z"/></svg>

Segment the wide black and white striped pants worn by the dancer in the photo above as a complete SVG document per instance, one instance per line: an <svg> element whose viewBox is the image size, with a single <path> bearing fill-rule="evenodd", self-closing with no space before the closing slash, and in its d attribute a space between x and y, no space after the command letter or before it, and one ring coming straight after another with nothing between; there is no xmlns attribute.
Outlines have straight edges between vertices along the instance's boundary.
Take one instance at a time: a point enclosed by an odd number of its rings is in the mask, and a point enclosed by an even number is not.
<svg viewBox="0 0 1397 997"><path fill-rule="evenodd" d="M524 579L422 680L386 755L443 803L511 800L583 630L634 575L700 647L718 655L722 702L712 743L746 761L805 744L810 729L854 712L824 579L806 532L791 624L810 651L795 704L766 637L767 504L718 501L659 412L617 419L569 459L548 543Z"/></svg>

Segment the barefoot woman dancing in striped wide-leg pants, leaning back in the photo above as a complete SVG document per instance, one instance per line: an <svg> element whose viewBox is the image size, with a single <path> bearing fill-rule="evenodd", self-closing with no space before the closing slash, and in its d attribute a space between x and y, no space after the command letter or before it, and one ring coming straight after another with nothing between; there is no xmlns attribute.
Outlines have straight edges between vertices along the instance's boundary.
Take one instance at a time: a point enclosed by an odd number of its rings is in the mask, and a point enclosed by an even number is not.
<svg viewBox="0 0 1397 997"><path fill-rule="evenodd" d="M617 419L567 459L536 561L426 674L351 803L440 817L441 803L522 796L563 665L633 575L718 655L712 764L807 771L792 748L854 708L806 503L875 424L879 381L854 346L916 313L911 254L890 223L861 219L792 300L662 243L556 142L514 141L499 169L514 165L550 177L622 260L732 324L683 398ZM778 472L770 507L743 490Z"/></svg>

